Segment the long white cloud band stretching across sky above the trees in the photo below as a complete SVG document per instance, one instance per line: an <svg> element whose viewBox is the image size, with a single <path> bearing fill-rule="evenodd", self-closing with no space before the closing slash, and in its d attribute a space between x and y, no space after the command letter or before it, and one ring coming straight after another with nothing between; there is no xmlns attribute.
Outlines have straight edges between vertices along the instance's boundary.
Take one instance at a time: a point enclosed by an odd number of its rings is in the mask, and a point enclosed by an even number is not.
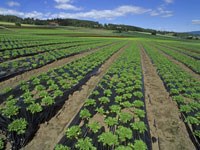
<svg viewBox="0 0 200 150"><path fill-rule="evenodd" d="M69 9L69 8L68 8ZM170 17L173 15L172 11L164 10L164 8L157 8L156 10L146 9L139 6L119 6L115 9L107 10L90 10L85 12L76 12L76 13L41 13L38 11L32 12L20 12L12 9L0 8L0 14L4 15L16 15L19 17L33 17L38 19L51 19L51 18L76 18L76 19L115 19L117 17L123 17L127 15L140 15L140 14L149 14L151 16L161 16L161 17Z"/></svg>

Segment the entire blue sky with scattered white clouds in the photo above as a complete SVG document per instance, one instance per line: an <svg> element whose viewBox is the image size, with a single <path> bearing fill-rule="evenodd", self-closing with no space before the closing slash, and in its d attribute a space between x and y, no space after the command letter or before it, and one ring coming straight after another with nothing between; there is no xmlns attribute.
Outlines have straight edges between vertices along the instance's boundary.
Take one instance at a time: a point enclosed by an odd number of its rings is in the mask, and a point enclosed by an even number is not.
<svg viewBox="0 0 200 150"><path fill-rule="evenodd" d="M0 14L77 18L178 32L200 30L200 0L1 0Z"/></svg>

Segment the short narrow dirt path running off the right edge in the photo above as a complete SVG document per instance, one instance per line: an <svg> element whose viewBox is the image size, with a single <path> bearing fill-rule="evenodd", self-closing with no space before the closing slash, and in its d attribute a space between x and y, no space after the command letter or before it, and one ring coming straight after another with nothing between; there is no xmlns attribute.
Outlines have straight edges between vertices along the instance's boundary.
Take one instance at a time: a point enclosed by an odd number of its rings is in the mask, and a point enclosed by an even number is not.
<svg viewBox="0 0 200 150"><path fill-rule="evenodd" d="M170 61L172 61L173 63L175 63L178 66L180 66L183 70L185 70L186 72L188 72L192 77L194 77L194 78L196 78L198 80L200 79L200 75L199 74L197 74L194 71L192 71L192 69L188 68L186 65L184 65L180 61L176 60L175 58L173 58L172 56L164 53L161 50L159 50L159 52L162 53L165 57L167 57Z"/></svg>

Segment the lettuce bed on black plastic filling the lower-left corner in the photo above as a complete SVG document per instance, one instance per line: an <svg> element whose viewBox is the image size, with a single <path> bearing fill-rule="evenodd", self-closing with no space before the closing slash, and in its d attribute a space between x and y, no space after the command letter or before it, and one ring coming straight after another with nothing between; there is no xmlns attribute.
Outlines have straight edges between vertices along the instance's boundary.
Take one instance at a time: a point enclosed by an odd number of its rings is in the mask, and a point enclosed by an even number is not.
<svg viewBox="0 0 200 150"><path fill-rule="evenodd" d="M5 132L12 149L26 145L39 125L53 117L68 96L85 84L124 45L126 42L103 47L62 67L34 76L1 95L0 129Z"/></svg>

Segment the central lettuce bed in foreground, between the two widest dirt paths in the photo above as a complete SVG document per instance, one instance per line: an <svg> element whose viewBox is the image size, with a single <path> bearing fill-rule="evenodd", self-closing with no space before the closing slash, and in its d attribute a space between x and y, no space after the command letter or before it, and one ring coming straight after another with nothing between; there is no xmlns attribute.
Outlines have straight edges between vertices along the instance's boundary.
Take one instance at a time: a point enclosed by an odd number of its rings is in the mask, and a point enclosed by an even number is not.
<svg viewBox="0 0 200 150"><path fill-rule="evenodd" d="M91 92L55 150L151 149L140 49L126 48Z"/></svg>

